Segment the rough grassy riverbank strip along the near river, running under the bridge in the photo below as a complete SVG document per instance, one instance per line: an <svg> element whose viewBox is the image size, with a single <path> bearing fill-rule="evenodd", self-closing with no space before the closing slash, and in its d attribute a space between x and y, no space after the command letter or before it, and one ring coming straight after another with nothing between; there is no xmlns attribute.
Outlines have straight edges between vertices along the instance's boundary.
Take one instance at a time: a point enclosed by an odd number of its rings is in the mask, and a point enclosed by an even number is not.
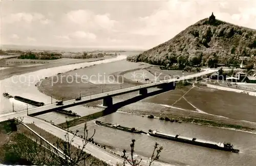
<svg viewBox="0 0 256 166"><path fill-rule="evenodd" d="M176 113L168 113L168 114L164 114L162 112L150 111L150 110L147 110L147 111L131 110L125 107L122 107L117 111L115 111L116 109L113 109L113 111L108 111L104 109L102 111L99 111L87 116L75 118L74 120L68 121L68 124L69 124L69 127L74 127L82 123L87 123L89 121L96 120L99 117L106 116L114 112L120 112L125 114L138 115L143 118L148 118L148 116L152 116L151 118L156 118L159 121L166 121L166 122L173 122L173 123L191 123L191 124L196 124L201 126L225 128L229 130L245 131L245 132L251 132L256 134L256 123L232 120L230 118L219 117L219 116L209 115L209 114L202 114L197 112L194 112L195 114L190 114L190 116L185 116L186 114L180 114L177 112L179 108L174 108L174 109L176 109L175 111ZM63 128L68 128L67 123L61 123L61 124L58 124L58 126Z"/></svg>

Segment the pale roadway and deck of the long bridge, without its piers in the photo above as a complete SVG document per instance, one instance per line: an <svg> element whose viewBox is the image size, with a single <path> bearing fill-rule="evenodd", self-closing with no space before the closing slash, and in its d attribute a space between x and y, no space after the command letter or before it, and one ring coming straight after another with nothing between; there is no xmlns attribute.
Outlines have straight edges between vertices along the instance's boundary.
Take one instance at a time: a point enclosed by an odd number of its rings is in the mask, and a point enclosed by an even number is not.
<svg viewBox="0 0 256 166"><path fill-rule="evenodd" d="M179 79L163 80L163 81L159 81L159 82L148 83L148 84L144 84L144 85L138 85L138 86L133 86L133 87L129 87L129 88L123 88L123 89L93 94L91 96L82 97L80 101L75 101L75 99L63 101L63 106L56 106L56 104L50 104L50 105L45 105L45 106L29 109L28 112L29 112L29 114L33 114L33 113L37 113L37 112L41 112L41 111L53 110L53 109L58 109L58 108L65 109L65 108L73 107L74 104L79 105L79 104L89 103L91 101L103 99L104 97L113 97L113 96L117 96L119 94L129 93L129 92L133 92L133 91L140 90L143 88L150 88L150 87L155 87L155 86L165 84L165 83L187 80L187 79L191 79L191 78L195 78L195 77L204 76L204 75L214 73L214 72L216 72L216 70L207 69L204 72L200 72L200 73L196 73L196 74L188 75L188 76L183 76ZM7 121L8 119L11 119L13 117L19 117L19 116L24 116L24 115L27 115L27 110L3 114L3 115L0 115L0 122Z"/></svg>

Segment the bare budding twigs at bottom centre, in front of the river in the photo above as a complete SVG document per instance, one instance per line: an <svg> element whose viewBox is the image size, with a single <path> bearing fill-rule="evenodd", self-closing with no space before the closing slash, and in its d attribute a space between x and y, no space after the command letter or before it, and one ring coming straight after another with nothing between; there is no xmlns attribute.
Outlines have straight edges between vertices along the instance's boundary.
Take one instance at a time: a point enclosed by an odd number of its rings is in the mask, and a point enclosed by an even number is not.
<svg viewBox="0 0 256 166"><path fill-rule="evenodd" d="M131 159L126 155L126 151L123 150L123 156L122 158L124 158L124 161L122 164L117 164L117 166L125 166L125 163L129 163L131 166L138 166L140 165L140 162L142 161L142 159L138 160L138 159L134 159L134 147L135 147L135 139L132 139L132 144L131 146ZM158 160L160 157L160 153L163 150L163 147L158 147L159 144L155 144L154 146L154 150L152 153L152 156L150 158L150 163L148 164L148 166L151 166L151 164L155 161Z"/></svg>

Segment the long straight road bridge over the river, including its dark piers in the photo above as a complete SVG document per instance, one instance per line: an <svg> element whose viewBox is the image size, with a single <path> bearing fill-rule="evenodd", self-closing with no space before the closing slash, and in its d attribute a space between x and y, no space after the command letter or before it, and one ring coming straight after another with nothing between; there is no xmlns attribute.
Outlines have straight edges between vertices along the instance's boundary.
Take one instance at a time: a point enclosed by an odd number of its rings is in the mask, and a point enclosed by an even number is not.
<svg viewBox="0 0 256 166"><path fill-rule="evenodd" d="M188 76L183 76L181 78L174 78L174 79L163 80L163 81L159 81L159 82L148 83L148 84L144 84L144 85L133 86L133 87L129 87L129 88L123 88L123 89L93 94L90 96L82 97L81 100L79 100L79 101L76 101L75 99L63 101L63 105L60 105L60 106L57 106L56 104L50 104L50 105L32 108L32 109L29 109L26 111L3 114L3 115L0 115L0 122L6 121L6 120L14 118L14 117L20 117L20 116L27 115L27 112L30 115L35 116L35 115L48 113L48 112L55 111L55 110L73 107L76 105L90 103L90 102L101 100L101 99L103 99L103 106L110 107L113 105L112 97L114 97L114 96L118 96L118 95L125 94L125 93L130 93L130 92L134 92L134 91L139 91L139 94L143 95L143 94L147 94L147 88L151 88L151 87L158 87L161 89L173 90L173 89L175 89L175 82L193 79L196 77L201 77L201 76L208 75L208 74L211 74L214 72L216 72L216 70L206 69L206 70L204 70L204 72L200 72L200 73L196 73L196 74L188 75Z"/></svg>

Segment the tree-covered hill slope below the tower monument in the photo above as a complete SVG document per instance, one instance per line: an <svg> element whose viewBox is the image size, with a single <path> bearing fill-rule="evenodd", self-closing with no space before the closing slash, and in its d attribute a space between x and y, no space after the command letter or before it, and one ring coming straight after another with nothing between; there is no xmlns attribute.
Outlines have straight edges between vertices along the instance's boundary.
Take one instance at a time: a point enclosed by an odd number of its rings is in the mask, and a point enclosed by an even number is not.
<svg viewBox="0 0 256 166"><path fill-rule="evenodd" d="M218 19L210 25L209 18L205 18L174 38L127 60L183 69L214 67L216 63L238 65L242 60L249 65L255 62L255 57L256 30Z"/></svg>

